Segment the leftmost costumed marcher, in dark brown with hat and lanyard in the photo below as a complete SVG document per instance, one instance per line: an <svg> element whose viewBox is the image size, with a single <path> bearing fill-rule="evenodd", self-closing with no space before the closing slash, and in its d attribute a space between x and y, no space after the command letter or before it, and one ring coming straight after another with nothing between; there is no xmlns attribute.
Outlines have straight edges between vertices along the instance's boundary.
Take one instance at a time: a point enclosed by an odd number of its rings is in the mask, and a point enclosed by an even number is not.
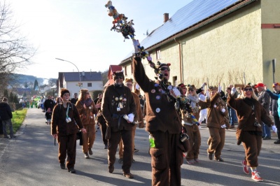
<svg viewBox="0 0 280 186"><path fill-rule="evenodd" d="M87 130L83 128L76 106L69 102L69 90L62 88L60 96L62 97L62 104L57 104L52 111L51 134L53 138L57 138L60 168L65 169L67 155L66 167L70 173L76 173L74 169L76 162L76 134L78 129L81 129L83 133L86 133Z"/></svg>

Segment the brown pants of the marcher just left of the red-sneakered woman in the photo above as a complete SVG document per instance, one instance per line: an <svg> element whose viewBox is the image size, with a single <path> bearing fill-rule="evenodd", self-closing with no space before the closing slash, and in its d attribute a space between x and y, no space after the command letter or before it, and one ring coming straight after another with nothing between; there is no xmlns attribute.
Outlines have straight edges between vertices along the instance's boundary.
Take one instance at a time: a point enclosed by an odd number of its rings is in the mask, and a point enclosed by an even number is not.
<svg viewBox="0 0 280 186"><path fill-rule="evenodd" d="M207 152L209 154L215 153L215 158L219 159L225 145L225 128L209 127L209 134L210 144Z"/></svg>

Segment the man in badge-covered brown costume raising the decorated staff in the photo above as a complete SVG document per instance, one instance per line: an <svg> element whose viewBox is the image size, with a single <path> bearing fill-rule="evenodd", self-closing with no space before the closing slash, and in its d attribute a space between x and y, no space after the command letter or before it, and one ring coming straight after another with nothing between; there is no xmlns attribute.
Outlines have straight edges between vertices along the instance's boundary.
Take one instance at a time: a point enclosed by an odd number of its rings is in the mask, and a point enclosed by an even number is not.
<svg viewBox="0 0 280 186"><path fill-rule="evenodd" d="M135 57L133 58L134 79L146 96L146 131L150 134L152 185L181 185L181 165L183 152L187 149L181 143L181 119L174 106L176 91L170 85L169 65L158 64L155 69L158 78L156 82L150 80L145 73L138 50L139 42L133 40ZM176 89L177 90L177 89ZM178 90L179 91L179 90Z"/></svg>

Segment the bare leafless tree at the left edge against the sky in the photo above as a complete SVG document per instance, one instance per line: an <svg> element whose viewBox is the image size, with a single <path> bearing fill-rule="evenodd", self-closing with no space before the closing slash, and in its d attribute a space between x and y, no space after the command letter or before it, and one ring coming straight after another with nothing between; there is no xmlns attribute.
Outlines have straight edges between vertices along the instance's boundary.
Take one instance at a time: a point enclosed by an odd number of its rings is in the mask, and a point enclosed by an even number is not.
<svg viewBox="0 0 280 186"><path fill-rule="evenodd" d="M13 22L10 7L5 1L0 1L0 86L6 87L13 80L10 75L16 69L30 65L36 51L20 35L19 28Z"/></svg>

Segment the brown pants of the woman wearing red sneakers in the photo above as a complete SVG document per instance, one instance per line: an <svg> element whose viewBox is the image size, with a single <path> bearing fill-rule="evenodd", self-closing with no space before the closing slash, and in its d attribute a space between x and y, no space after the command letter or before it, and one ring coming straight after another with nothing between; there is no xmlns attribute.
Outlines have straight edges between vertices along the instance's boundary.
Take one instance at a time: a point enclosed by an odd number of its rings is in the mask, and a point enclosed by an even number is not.
<svg viewBox="0 0 280 186"><path fill-rule="evenodd" d="M245 159L248 166L258 166L258 155L262 148L262 136L256 136L244 131L242 136L242 144L245 150Z"/></svg>

